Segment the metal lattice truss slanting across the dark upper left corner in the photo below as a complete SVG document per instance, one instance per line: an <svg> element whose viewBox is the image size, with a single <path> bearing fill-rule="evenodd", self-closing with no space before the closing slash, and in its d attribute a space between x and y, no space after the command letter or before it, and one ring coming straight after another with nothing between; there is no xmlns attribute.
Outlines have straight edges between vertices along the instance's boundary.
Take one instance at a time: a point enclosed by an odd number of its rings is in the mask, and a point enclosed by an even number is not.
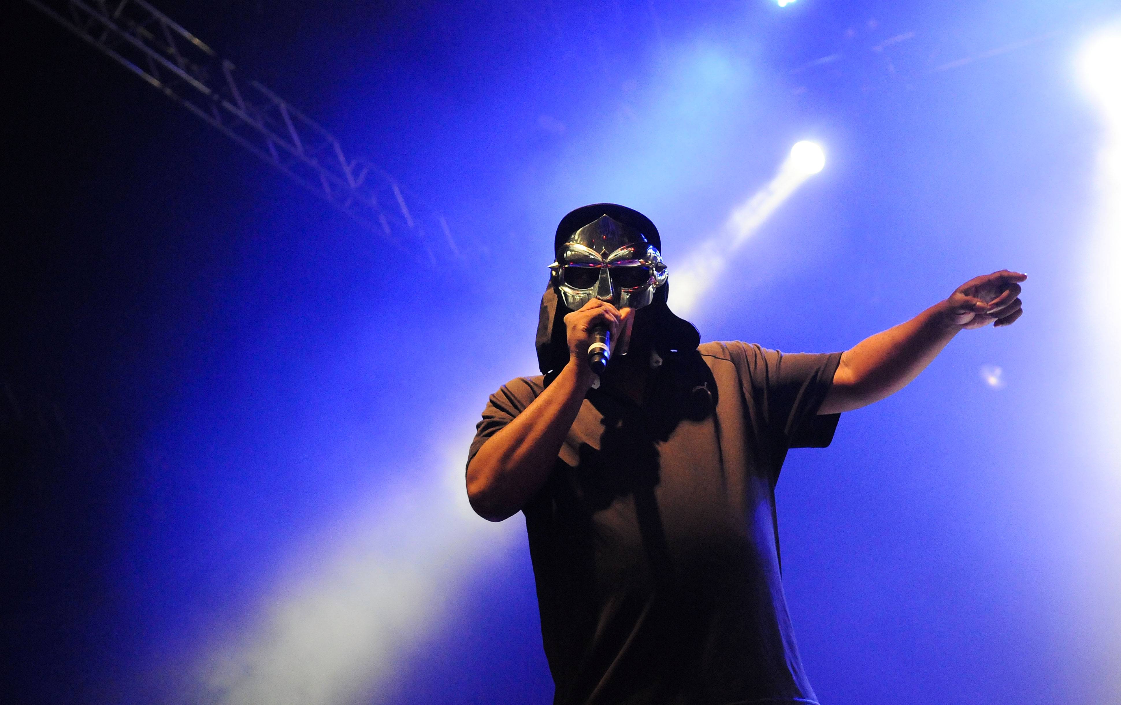
<svg viewBox="0 0 1121 705"><path fill-rule="evenodd" d="M367 230L433 265L461 253L397 180L143 0L27 0Z"/></svg>

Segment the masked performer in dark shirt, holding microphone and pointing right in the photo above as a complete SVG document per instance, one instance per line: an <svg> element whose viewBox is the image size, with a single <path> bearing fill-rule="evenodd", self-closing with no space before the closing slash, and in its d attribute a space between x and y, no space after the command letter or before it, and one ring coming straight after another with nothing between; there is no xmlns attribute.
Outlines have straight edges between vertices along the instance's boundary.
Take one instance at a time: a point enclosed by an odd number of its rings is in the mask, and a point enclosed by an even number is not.
<svg viewBox="0 0 1121 705"><path fill-rule="evenodd" d="M1015 322L1027 277L978 277L852 350L784 354L700 344L637 211L573 211L555 252L541 374L491 396L466 477L482 517L526 516L554 702L816 703L779 575L786 453L827 446L842 411L901 389L958 331Z"/></svg>

